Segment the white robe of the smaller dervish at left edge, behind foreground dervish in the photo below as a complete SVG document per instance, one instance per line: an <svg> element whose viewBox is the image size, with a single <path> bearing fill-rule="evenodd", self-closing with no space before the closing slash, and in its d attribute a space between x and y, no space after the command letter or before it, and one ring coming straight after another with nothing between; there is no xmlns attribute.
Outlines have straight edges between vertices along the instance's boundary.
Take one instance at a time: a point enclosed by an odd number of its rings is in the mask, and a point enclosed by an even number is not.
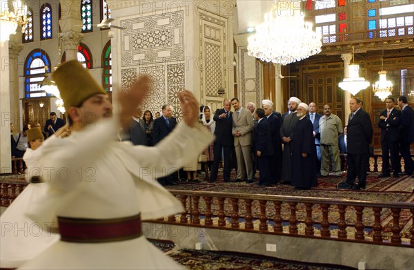
<svg viewBox="0 0 414 270"><path fill-rule="evenodd" d="M50 140L55 136L50 137ZM38 176L41 147L33 151L26 150L23 160L26 162L26 180ZM24 212L32 207L34 200L46 195L46 183L28 184L19 196L0 216L0 268L17 268L32 260L51 244L59 241L58 233L43 230L43 226L30 220Z"/></svg>

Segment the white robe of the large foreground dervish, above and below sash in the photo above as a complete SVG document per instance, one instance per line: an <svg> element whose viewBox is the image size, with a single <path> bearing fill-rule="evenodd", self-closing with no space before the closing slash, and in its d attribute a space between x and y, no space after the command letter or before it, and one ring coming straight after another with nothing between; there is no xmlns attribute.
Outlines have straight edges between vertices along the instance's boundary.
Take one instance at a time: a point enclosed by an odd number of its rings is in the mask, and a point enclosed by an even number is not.
<svg viewBox="0 0 414 270"><path fill-rule="evenodd" d="M155 147L115 142L117 125L103 120L43 147L48 195L28 209L41 224L57 216L112 219L141 213L143 220L184 211L155 180L195 160L213 140L206 128L181 123ZM189 151L190 150L190 151ZM141 236L104 243L59 241L21 269L181 269Z"/></svg>

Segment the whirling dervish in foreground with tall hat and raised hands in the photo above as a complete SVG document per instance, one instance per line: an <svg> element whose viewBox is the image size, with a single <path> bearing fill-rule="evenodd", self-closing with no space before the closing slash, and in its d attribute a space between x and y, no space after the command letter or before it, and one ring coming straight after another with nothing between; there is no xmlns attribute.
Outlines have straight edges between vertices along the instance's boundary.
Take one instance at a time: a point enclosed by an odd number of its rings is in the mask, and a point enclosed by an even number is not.
<svg viewBox="0 0 414 270"><path fill-rule="evenodd" d="M150 95L148 77L118 93L114 119L108 93L78 61L59 66L53 79L72 133L41 146L39 168L48 195L39 197L27 214L39 226L59 224L61 238L21 269L181 269L146 240L141 219L184 211L155 178L196 160L213 140L196 124L194 95L178 93L183 121L170 135L154 147L133 146L114 138Z"/></svg>

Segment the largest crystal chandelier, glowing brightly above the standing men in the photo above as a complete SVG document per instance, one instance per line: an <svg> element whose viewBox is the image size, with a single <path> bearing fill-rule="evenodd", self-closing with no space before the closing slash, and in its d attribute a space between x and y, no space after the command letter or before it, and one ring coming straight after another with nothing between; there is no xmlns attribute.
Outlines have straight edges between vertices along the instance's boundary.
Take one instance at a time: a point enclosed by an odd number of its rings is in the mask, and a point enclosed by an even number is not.
<svg viewBox="0 0 414 270"><path fill-rule="evenodd" d="M321 35L304 21L300 1L275 0L264 23L248 38L248 55L266 62L287 65L321 52Z"/></svg>

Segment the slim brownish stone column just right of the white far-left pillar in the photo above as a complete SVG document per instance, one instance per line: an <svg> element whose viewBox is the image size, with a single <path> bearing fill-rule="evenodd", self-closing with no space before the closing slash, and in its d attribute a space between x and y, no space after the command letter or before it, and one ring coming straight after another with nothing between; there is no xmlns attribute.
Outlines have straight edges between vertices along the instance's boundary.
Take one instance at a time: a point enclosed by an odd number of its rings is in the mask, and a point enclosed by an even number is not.
<svg viewBox="0 0 414 270"><path fill-rule="evenodd" d="M9 42L9 56L10 56L10 122L14 124L14 132L20 131L20 109L19 109L19 73L18 73L18 58L19 53L23 50L23 44Z"/></svg>

